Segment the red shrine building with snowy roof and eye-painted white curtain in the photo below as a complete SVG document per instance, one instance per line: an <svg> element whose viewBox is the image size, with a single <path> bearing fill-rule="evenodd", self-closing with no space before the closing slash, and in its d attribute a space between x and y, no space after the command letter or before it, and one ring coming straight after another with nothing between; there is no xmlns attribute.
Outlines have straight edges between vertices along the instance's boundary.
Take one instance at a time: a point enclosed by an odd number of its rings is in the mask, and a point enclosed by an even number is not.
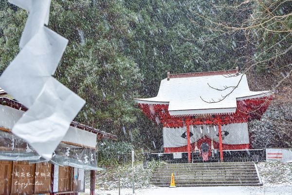
<svg viewBox="0 0 292 195"><path fill-rule="evenodd" d="M251 91L245 74L235 70L170 74L154 98L135 98L143 113L163 125L164 155L199 154L210 161L224 151L250 149L248 122L259 120L273 91ZM180 157L178 157L180 158Z"/></svg>

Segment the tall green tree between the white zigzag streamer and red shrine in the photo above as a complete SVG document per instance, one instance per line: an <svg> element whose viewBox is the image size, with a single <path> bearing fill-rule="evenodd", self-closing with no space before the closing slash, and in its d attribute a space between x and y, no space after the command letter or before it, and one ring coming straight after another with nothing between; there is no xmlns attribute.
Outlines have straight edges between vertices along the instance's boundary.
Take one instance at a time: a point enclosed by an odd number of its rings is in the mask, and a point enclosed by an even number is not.
<svg viewBox="0 0 292 195"><path fill-rule="evenodd" d="M123 136L121 128L136 121L132 98L143 77L121 52L121 40L132 36L122 4L55 0L51 20L70 39L56 77L87 102L76 119Z"/></svg>

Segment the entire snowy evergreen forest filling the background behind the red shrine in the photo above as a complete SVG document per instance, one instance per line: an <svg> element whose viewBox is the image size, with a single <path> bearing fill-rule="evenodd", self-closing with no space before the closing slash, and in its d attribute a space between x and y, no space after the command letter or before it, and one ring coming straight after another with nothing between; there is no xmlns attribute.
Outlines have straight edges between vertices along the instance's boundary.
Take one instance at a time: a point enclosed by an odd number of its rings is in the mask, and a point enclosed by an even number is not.
<svg viewBox="0 0 292 195"><path fill-rule="evenodd" d="M0 0L0 72L27 16ZM160 151L162 126L133 98L155 97L167 71L238 67L251 89L276 90L252 146L292 147L291 0L52 0L48 27L69 39L54 77L86 100L80 123Z"/></svg>

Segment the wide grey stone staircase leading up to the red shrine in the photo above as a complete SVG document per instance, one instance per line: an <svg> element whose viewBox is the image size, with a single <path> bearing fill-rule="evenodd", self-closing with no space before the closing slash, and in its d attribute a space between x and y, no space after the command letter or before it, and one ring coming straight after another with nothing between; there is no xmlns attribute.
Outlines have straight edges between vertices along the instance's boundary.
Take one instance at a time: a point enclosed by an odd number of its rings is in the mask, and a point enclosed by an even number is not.
<svg viewBox="0 0 292 195"><path fill-rule="evenodd" d="M152 184L168 187L171 173L177 187L262 185L254 162L163 164L152 174Z"/></svg>

